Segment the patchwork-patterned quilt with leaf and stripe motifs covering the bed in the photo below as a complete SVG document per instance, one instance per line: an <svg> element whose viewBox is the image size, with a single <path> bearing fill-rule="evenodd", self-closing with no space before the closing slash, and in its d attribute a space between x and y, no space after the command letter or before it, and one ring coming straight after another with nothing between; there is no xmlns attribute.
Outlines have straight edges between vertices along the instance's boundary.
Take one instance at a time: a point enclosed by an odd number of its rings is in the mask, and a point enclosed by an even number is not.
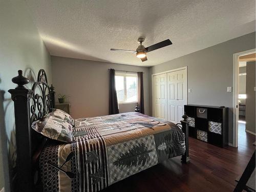
<svg viewBox="0 0 256 192"><path fill-rule="evenodd" d="M177 125L135 112L76 119L72 133L40 155L44 191L99 191L185 153Z"/></svg>

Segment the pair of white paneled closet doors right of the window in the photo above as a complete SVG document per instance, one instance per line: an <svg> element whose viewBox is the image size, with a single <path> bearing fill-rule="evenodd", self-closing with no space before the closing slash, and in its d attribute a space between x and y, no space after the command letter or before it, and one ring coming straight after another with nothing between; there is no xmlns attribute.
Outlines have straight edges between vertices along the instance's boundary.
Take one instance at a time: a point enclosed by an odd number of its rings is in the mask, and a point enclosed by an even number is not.
<svg viewBox="0 0 256 192"><path fill-rule="evenodd" d="M186 104L186 69L153 76L153 116L178 123Z"/></svg>

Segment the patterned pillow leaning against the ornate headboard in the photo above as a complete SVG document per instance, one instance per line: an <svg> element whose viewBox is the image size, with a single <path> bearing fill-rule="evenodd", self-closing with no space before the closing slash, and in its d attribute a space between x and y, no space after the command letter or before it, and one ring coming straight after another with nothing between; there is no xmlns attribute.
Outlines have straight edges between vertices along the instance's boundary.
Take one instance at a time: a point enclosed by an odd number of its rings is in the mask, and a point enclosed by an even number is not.
<svg viewBox="0 0 256 192"><path fill-rule="evenodd" d="M72 142L72 125L65 120L51 114L32 123L32 129L36 132L58 141Z"/></svg>

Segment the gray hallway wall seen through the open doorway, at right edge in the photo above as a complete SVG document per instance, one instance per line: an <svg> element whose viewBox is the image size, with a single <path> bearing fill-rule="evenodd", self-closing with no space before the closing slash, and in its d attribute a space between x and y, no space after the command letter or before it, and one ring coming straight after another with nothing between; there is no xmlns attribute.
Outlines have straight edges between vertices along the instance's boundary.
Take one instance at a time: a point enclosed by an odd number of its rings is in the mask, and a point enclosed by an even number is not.
<svg viewBox="0 0 256 192"><path fill-rule="evenodd" d="M255 61L246 63L245 130L255 133Z"/></svg>

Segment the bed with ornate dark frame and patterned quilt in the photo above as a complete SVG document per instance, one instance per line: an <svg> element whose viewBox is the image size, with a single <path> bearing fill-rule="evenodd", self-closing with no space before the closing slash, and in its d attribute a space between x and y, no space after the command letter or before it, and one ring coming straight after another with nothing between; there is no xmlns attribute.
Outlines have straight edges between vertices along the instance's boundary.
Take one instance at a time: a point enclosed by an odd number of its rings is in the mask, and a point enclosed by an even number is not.
<svg viewBox="0 0 256 192"><path fill-rule="evenodd" d="M9 90L17 143L15 191L99 191L169 158L189 162L185 115L180 124L137 112L80 118L72 121L68 143L42 136L31 127L54 112L54 87L44 70L32 90L24 87L29 80L21 70L18 74L12 79L17 88Z"/></svg>

